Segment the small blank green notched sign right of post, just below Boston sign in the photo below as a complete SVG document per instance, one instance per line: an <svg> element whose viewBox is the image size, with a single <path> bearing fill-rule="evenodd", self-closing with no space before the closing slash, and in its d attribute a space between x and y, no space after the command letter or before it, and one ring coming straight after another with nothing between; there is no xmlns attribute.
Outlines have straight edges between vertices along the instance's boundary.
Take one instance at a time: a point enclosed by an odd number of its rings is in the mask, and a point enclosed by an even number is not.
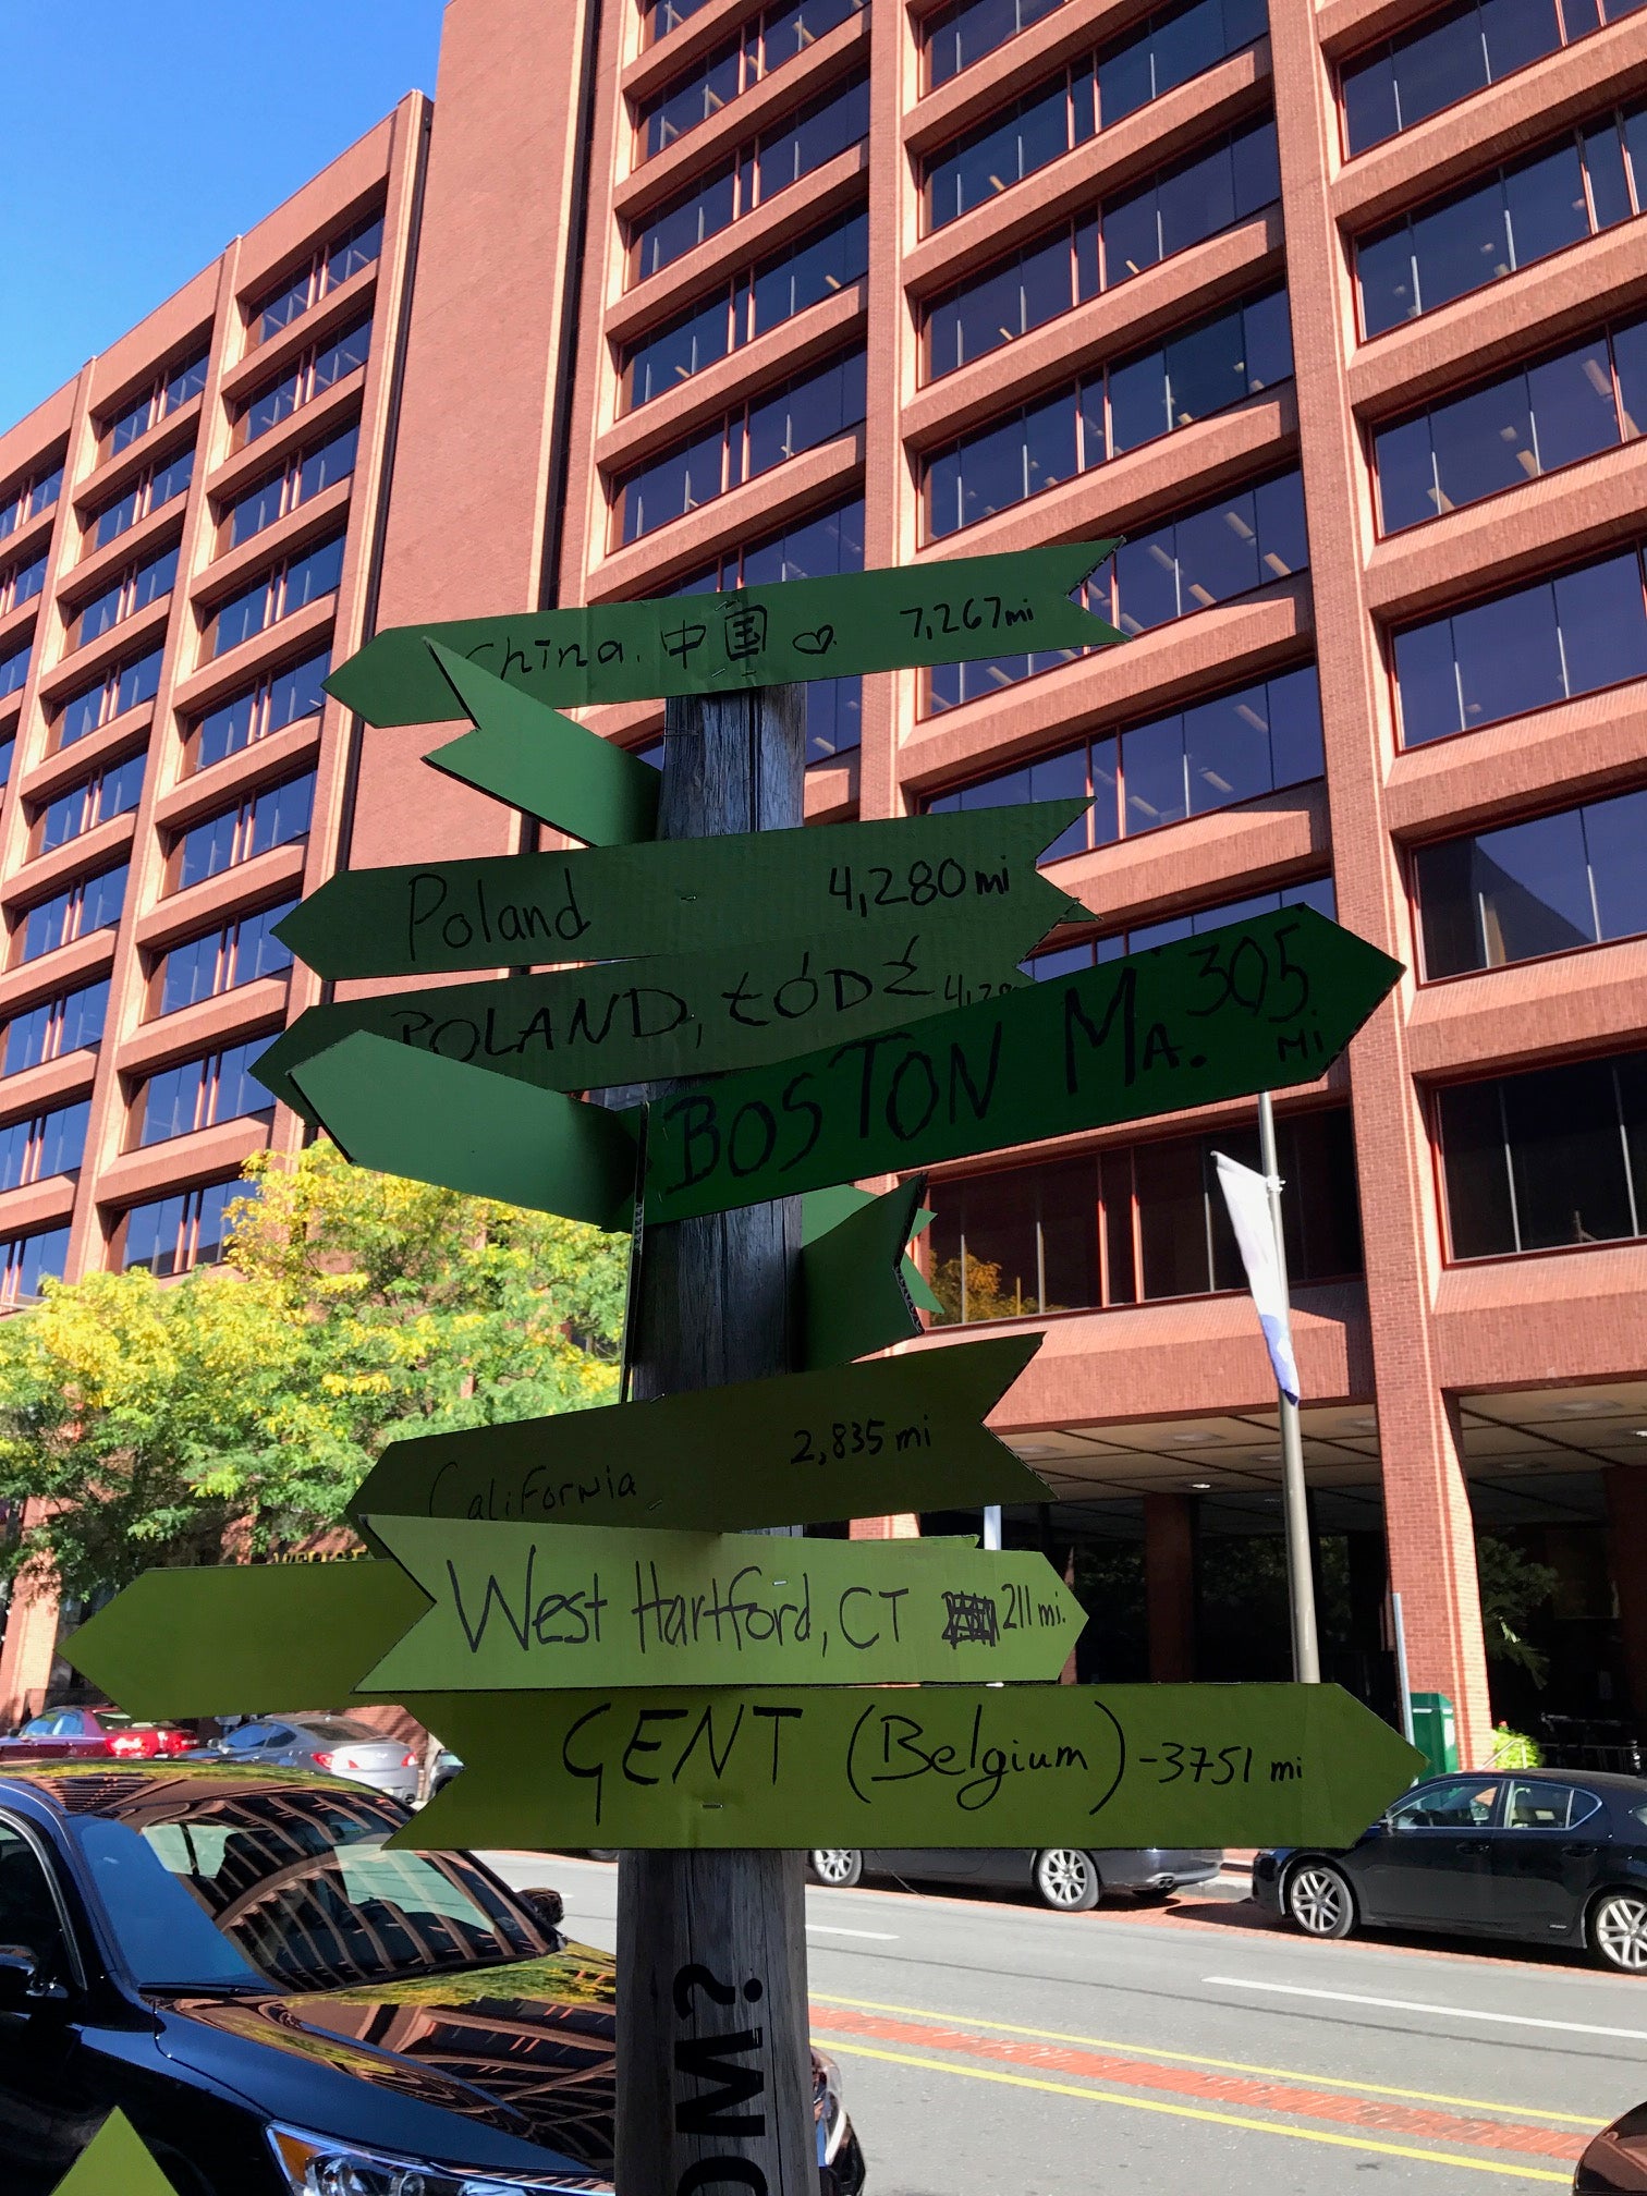
<svg viewBox="0 0 1647 2196"><path fill-rule="evenodd" d="M806 1366L841 1366L920 1333L905 1245L927 1190L911 1175L885 1197L813 1190L802 1199L802 1320ZM931 1212L927 1214L931 1219Z"/></svg>

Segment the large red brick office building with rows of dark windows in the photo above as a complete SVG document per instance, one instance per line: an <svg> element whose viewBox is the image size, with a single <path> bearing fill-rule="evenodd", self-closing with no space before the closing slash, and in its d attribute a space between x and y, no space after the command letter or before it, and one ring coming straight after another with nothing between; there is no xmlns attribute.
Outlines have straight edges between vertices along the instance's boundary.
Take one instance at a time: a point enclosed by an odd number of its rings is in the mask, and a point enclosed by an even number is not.
<svg viewBox="0 0 1647 2196"><path fill-rule="evenodd" d="M1647 1719L1645 83L1616 0L455 0L433 123L0 437L7 1289L209 1256L294 1138L268 909L523 843L323 650L1124 534L1129 648L813 690L808 817L1080 791L1050 964L1276 898L1408 964L1280 1107L1329 1673L1392 1702L1394 1586L1478 1755L1484 1533L1555 1579L1498 1713ZM931 1188L944 1333L1047 1333L1008 1537L1083 1673L1285 1673L1214 1144L1252 1107Z"/></svg>

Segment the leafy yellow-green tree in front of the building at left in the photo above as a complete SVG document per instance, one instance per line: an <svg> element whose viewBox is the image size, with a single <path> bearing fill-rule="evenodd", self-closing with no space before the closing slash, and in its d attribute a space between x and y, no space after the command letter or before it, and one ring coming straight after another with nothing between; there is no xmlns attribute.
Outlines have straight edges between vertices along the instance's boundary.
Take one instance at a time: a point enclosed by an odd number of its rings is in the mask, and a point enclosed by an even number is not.
<svg viewBox="0 0 1647 2196"><path fill-rule="evenodd" d="M542 1212L259 1155L222 1267L88 1274L0 1322L0 1500L51 1513L0 1570L70 1594L343 1522L397 1432L602 1403L626 1243Z"/></svg>

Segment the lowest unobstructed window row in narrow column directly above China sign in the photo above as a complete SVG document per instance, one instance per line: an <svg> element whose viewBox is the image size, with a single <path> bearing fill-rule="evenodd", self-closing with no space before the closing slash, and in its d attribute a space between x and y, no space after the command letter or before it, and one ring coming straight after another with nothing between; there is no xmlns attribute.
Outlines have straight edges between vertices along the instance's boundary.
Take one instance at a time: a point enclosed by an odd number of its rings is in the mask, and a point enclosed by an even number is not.
<svg viewBox="0 0 1647 2196"><path fill-rule="evenodd" d="M863 351L795 376L729 413L712 433L665 450L613 485L613 531L639 540L742 481L863 424Z"/></svg>

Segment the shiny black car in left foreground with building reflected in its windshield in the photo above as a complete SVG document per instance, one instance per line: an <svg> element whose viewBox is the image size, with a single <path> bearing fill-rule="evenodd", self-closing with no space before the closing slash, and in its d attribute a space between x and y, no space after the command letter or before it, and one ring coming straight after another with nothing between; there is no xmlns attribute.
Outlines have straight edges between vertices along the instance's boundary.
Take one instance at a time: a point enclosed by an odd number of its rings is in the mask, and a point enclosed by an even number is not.
<svg viewBox="0 0 1647 2196"><path fill-rule="evenodd" d="M178 2196L613 2187L613 1961L551 1891L397 1853L367 1785L206 1761L0 1777L0 2185L119 2106ZM819 2183L859 2196L815 2062Z"/></svg>

